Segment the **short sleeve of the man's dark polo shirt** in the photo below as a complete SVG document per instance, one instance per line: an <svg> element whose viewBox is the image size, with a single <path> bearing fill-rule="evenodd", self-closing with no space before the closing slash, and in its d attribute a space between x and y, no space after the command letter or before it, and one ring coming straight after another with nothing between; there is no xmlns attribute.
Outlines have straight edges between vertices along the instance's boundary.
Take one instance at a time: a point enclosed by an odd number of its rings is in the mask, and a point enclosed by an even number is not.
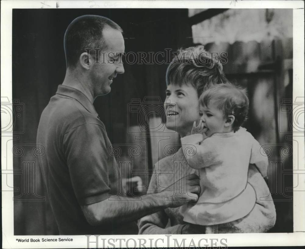
<svg viewBox="0 0 305 249"><path fill-rule="evenodd" d="M110 196L107 140L106 131L99 124L82 124L64 135L64 153L80 205Z"/></svg>

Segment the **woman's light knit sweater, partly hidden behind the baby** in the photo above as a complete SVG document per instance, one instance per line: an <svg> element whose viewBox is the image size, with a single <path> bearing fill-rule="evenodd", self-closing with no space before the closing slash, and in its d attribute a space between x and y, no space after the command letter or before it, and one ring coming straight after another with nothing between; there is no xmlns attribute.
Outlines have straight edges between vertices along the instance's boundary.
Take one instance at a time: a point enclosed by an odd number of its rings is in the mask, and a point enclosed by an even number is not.
<svg viewBox="0 0 305 249"><path fill-rule="evenodd" d="M157 193L173 184L177 176L192 174L194 171L199 175L199 171L186 166L186 159L180 148L174 155L165 157L154 165L147 192ZM184 222L179 207L156 209L155 213L139 220L139 234L181 234L182 229L184 233L192 234L265 233L275 224L275 207L272 200L261 200L263 197L271 199L270 191L253 164L249 165L248 182L255 189L256 203L252 211L242 219L217 226L199 226Z"/></svg>

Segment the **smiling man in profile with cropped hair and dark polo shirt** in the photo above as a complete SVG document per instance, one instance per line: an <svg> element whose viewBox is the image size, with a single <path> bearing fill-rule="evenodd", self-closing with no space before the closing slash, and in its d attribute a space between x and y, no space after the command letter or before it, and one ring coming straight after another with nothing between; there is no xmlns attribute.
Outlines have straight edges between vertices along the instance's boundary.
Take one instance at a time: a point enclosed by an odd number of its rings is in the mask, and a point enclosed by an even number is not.
<svg viewBox="0 0 305 249"><path fill-rule="evenodd" d="M117 163L93 101L124 73L121 28L102 16L80 16L68 26L64 48L66 76L42 112L37 134L46 150L39 163L59 233L137 234L138 218L194 200L200 191L195 175L188 176L188 193L163 191L140 201L117 196ZM176 182L177 193L183 180Z"/></svg>

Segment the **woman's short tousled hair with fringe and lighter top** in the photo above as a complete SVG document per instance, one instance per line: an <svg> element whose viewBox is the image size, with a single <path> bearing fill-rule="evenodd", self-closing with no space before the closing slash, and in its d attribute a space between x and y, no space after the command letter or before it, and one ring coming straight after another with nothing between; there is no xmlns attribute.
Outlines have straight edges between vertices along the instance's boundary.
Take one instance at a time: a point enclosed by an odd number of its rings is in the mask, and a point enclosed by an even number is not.
<svg viewBox="0 0 305 249"><path fill-rule="evenodd" d="M214 59L203 45L179 49L166 71L166 84L191 84L198 97L209 85L229 83L222 64Z"/></svg>

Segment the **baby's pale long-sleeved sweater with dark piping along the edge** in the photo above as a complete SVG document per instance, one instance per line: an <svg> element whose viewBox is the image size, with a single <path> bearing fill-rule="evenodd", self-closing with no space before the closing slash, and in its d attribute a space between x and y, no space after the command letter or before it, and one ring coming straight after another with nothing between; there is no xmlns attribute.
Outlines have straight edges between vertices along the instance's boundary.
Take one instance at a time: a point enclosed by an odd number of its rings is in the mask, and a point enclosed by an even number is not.
<svg viewBox="0 0 305 249"><path fill-rule="evenodd" d="M240 219L253 209L255 191L247 184L249 163L267 176L268 158L245 128L236 132L202 134L181 139L188 166L198 169L201 193L196 204L181 207L184 221L216 225Z"/></svg>

